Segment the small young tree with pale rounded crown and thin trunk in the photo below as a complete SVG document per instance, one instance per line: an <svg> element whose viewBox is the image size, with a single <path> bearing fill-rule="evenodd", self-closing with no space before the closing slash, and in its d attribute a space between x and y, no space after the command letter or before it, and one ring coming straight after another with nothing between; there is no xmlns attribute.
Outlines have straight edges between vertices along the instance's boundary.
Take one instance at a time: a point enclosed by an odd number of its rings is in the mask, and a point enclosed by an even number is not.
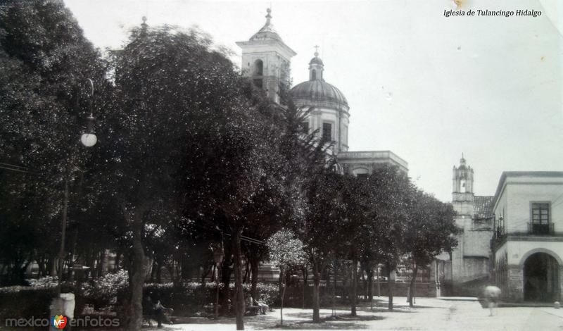
<svg viewBox="0 0 563 331"><path fill-rule="evenodd" d="M270 254L270 262L279 268L281 307L279 309L279 323L284 325L284 298L286 294L286 272L289 268L303 266L305 252L303 242L297 239L289 230L279 230L267 239L266 246Z"/></svg>

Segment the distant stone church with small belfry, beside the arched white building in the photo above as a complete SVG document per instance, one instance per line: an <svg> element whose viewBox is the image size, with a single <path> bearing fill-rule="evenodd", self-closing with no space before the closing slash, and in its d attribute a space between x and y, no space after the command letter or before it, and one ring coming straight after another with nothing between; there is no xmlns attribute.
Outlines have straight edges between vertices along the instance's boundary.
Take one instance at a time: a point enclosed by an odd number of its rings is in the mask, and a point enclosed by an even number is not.
<svg viewBox="0 0 563 331"><path fill-rule="evenodd" d="M474 195L474 171L461 158L453 167L452 204L455 224L460 228L457 247L451 254L452 283L456 294L464 294L464 285L487 281L491 271L494 196Z"/></svg>

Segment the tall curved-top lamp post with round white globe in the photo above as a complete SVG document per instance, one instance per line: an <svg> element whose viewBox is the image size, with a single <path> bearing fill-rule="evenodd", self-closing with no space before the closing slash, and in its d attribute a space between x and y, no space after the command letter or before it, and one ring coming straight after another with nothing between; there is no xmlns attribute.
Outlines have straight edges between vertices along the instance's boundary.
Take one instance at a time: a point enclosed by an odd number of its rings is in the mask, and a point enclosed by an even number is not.
<svg viewBox="0 0 563 331"><path fill-rule="evenodd" d="M89 99L89 111L90 115L86 118L87 119L87 126L86 131L80 137L80 142L86 147L91 147L96 144L98 141L98 137L94 135L93 127L94 127L94 116L92 113L92 99L94 98L94 82L88 78L88 82L90 85L90 99ZM72 156L70 156L69 163L72 163ZM63 266L65 261L65 237L66 237L66 223L67 223L67 216L68 216L68 181L71 172L71 166L68 165L68 169L65 173L65 193L63 197L63 220L62 220L62 230L61 230L61 247L58 251L58 289L57 289L57 296L61 294L61 290L63 287Z"/></svg>

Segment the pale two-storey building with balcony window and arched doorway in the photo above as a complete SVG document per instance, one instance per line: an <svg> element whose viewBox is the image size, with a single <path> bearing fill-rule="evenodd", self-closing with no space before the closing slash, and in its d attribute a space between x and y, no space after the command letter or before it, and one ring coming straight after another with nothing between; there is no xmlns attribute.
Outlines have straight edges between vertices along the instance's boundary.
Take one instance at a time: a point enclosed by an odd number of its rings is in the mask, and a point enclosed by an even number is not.
<svg viewBox="0 0 563 331"><path fill-rule="evenodd" d="M504 172L493 206L493 276L507 301L561 301L563 172Z"/></svg>

